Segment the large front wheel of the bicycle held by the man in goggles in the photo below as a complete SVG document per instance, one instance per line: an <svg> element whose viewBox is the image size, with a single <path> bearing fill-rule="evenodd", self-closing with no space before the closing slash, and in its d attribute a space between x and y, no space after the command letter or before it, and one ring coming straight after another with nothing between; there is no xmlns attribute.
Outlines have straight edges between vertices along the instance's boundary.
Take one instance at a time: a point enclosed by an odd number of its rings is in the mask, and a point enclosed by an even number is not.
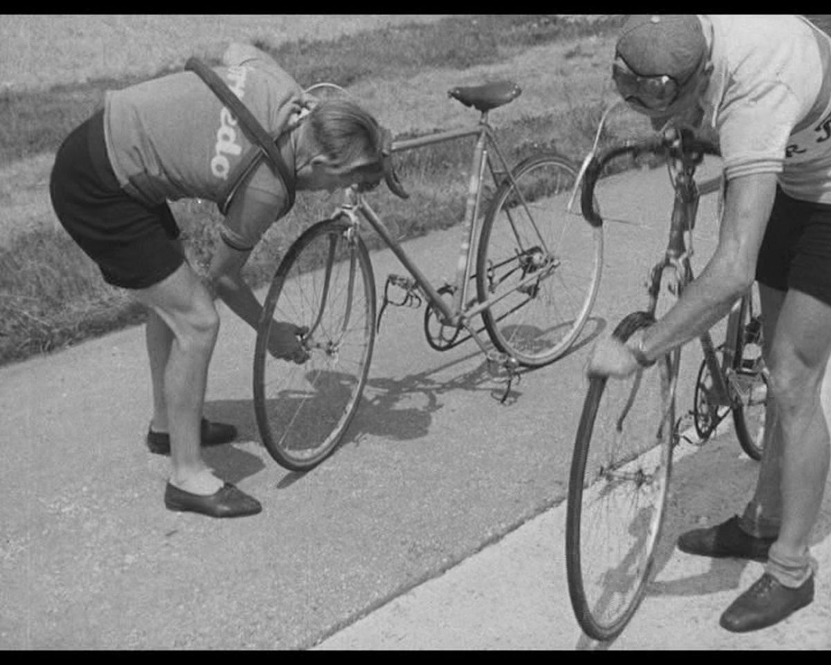
<svg viewBox="0 0 831 665"><path fill-rule="evenodd" d="M625 342L652 323L651 314L632 313L613 334ZM675 445L678 361L676 350L626 380L589 381L569 476L566 572L575 617L597 640L621 633L652 574Z"/></svg>

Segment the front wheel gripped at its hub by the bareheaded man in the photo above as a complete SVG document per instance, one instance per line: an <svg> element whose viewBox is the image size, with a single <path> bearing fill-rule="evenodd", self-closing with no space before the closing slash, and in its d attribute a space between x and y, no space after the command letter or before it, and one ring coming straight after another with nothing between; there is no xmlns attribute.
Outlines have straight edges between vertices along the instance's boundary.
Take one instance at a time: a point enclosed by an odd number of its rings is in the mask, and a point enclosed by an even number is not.
<svg viewBox="0 0 831 665"><path fill-rule="evenodd" d="M275 318L309 329L306 362L268 352ZM342 442L366 385L375 322L375 278L363 240L341 218L307 229L274 273L254 352L254 411L278 464L310 470Z"/></svg>

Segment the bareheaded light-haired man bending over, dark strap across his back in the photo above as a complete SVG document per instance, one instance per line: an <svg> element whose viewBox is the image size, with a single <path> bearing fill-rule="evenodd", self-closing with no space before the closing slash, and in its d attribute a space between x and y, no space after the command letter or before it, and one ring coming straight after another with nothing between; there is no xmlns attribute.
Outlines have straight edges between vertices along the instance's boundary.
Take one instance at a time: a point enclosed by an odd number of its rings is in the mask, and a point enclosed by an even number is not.
<svg viewBox="0 0 831 665"><path fill-rule="evenodd" d="M214 517L253 515L253 497L224 483L199 446L232 441L234 426L202 417L219 318L215 291L257 328L262 308L241 270L296 190L334 190L381 179L384 132L352 101L317 103L271 57L231 44L214 69L253 116L278 136L283 165L254 158L237 118L192 71L108 92L104 108L57 152L50 194L61 224L106 282L150 310L146 341L153 387L150 451L170 454L165 505ZM283 174L286 177L283 177ZM184 258L167 200L216 202L222 242L203 283ZM292 323L277 327L273 355L302 362Z"/></svg>

